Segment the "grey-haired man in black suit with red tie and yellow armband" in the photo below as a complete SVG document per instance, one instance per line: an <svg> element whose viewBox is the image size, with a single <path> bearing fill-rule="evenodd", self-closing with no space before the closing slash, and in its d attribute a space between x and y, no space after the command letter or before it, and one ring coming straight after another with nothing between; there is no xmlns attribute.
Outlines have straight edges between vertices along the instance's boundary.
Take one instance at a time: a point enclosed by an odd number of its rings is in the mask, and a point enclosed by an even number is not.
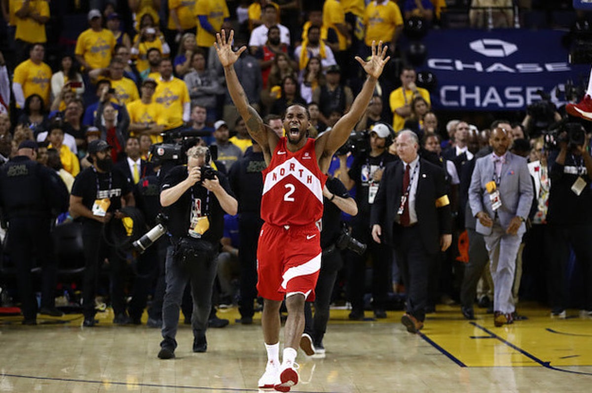
<svg viewBox="0 0 592 393"><path fill-rule="evenodd" d="M395 143L400 160L385 167L370 222L373 239L395 249L407 288L401 323L417 333L425 319L429 266L451 245L452 216L444 172L420 159L416 134L400 131Z"/></svg>

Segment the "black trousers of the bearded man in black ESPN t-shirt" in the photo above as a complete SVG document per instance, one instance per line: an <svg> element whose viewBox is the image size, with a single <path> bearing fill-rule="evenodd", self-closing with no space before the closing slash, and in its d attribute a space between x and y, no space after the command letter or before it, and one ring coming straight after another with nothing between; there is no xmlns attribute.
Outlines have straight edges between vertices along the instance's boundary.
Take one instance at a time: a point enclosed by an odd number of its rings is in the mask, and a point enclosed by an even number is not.
<svg viewBox="0 0 592 393"><path fill-rule="evenodd" d="M115 218L114 218L115 220ZM111 306L115 315L126 312L124 285L126 261L103 239L102 224L86 220L82 224L85 270L82 280L82 313L85 318L96 314L95 296L98 288L102 261L109 259Z"/></svg>

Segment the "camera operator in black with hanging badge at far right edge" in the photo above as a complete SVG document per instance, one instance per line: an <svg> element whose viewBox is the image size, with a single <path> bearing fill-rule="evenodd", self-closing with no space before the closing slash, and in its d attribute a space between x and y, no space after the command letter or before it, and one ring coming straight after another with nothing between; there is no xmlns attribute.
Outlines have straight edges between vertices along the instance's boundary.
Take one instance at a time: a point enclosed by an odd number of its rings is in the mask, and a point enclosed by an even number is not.
<svg viewBox="0 0 592 393"><path fill-rule="evenodd" d="M581 317L592 317L592 157L587 151L588 137L578 123L564 125L559 134L559 155L551 166L549 190L549 249L551 268L548 271L551 315L565 318L568 295L565 277L570 246L576 259L584 265L586 294ZM549 241L545 242L549 244Z"/></svg>

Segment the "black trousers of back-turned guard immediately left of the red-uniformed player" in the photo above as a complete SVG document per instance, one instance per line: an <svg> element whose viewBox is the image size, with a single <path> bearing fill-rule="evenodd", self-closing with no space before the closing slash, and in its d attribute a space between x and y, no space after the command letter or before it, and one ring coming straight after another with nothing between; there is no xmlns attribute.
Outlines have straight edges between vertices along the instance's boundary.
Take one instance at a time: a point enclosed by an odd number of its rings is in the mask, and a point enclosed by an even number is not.
<svg viewBox="0 0 592 393"><path fill-rule="evenodd" d="M253 302L257 297L257 242L263 220L257 213L239 215L239 263L241 317L253 317Z"/></svg>

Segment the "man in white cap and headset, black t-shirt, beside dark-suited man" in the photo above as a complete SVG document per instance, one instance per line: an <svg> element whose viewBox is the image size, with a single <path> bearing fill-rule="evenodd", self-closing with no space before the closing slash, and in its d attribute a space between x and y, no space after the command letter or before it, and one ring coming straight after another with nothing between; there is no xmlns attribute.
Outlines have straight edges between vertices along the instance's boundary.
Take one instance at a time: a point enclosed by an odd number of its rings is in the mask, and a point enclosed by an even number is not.
<svg viewBox="0 0 592 393"><path fill-rule="evenodd" d="M377 318L386 318L384 301L387 298L388 285L391 282L388 276L392 253L384 244L372 241L370 236L370 208L374 204L374 198L378 191L378 183L382 178L382 172L387 163L395 159L388 153L388 141L391 132L387 125L376 124L369 136L369 151L362 151L353 160L351 169L347 169L345 155L339 156L340 180L349 190L356 187L356 203L359 212L352 220L352 236L362 243L368 244L368 250L372 253L372 298L374 314ZM363 150L363 149L362 149ZM366 259L368 253L362 256L348 253L348 293L352 302L351 320L361 321L364 318L364 282Z"/></svg>

